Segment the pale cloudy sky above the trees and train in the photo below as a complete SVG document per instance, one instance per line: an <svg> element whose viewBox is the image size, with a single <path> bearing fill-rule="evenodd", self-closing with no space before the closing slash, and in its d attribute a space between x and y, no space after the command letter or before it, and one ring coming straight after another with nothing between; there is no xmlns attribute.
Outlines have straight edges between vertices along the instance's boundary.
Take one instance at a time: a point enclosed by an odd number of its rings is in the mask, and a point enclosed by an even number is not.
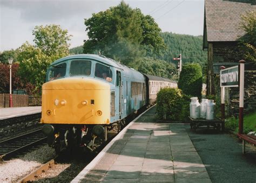
<svg viewBox="0 0 256 183"><path fill-rule="evenodd" d="M37 25L57 24L72 35L70 48L88 39L84 18L105 11L121 0L0 0L0 52L33 44ZM204 0L125 0L151 15L162 32L203 35Z"/></svg>

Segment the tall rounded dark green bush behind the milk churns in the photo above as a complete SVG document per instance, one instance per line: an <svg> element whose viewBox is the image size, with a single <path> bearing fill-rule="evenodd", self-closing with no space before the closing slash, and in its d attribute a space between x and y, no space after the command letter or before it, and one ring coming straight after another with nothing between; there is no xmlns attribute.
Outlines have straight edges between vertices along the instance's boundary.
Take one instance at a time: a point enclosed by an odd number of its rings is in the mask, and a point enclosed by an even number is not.
<svg viewBox="0 0 256 183"><path fill-rule="evenodd" d="M202 72L199 64L186 64L183 66L178 88L186 95L197 96L201 99L202 90Z"/></svg>

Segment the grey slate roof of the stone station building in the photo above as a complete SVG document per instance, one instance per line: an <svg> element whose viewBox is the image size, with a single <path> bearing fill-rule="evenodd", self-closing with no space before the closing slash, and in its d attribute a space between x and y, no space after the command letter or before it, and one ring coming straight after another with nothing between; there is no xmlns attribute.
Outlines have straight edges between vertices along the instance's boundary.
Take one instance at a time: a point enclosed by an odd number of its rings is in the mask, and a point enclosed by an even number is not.
<svg viewBox="0 0 256 183"><path fill-rule="evenodd" d="M240 16L256 10L256 0L205 0L204 46L211 41L236 41L244 35Z"/></svg>

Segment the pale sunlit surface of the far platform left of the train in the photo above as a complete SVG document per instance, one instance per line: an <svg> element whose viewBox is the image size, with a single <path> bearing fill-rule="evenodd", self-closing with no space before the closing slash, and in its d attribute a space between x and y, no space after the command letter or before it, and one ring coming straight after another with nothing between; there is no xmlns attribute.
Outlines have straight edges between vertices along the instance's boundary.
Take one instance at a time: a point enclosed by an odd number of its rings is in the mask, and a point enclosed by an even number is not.
<svg viewBox="0 0 256 183"><path fill-rule="evenodd" d="M26 116L37 114L42 111L41 106L37 107L14 107L14 108L0 108L0 120L12 117Z"/></svg>

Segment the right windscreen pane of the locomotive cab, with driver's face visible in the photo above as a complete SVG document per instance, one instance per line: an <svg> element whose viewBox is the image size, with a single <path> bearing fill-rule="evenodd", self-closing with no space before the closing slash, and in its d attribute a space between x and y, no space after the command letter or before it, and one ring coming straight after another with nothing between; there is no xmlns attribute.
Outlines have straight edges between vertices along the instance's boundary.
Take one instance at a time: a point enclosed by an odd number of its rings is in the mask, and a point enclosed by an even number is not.
<svg viewBox="0 0 256 183"><path fill-rule="evenodd" d="M104 79L107 82L111 82L113 78L110 67L98 63L95 66L95 76L97 78Z"/></svg>

